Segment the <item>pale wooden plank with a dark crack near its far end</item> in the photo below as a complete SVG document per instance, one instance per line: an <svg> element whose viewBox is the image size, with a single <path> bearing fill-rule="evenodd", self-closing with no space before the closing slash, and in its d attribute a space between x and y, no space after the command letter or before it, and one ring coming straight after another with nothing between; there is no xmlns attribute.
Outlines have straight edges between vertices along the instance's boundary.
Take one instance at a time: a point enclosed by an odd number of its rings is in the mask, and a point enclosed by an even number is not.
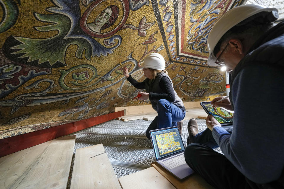
<svg viewBox="0 0 284 189"><path fill-rule="evenodd" d="M121 188L102 144L76 150L71 179L75 188Z"/></svg>

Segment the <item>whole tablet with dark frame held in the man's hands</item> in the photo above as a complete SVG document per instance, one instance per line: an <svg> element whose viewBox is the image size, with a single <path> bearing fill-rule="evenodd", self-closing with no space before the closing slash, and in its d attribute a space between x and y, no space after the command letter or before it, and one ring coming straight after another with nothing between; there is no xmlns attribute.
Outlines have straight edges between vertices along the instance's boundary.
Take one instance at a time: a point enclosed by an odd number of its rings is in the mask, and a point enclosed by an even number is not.
<svg viewBox="0 0 284 189"><path fill-rule="evenodd" d="M233 116L234 112L230 110L226 110L223 107L218 106L209 106L210 102L200 102L200 105L205 110L208 115L213 115L214 118L221 123L221 126L225 125L233 125ZM209 106L209 107L208 107Z"/></svg>

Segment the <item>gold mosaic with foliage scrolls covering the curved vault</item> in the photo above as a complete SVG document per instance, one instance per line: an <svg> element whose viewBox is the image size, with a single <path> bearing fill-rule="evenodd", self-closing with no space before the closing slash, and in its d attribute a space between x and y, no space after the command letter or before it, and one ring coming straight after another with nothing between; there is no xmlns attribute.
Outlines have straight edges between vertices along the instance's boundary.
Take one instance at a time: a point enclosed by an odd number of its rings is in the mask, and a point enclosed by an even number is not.
<svg viewBox="0 0 284 189"><path fill-rule="evenodd" d="M0 0L0 139L145 105L122 67L162 54L185 102L225 93L206 64L214 21L242 0Z"/></svg>

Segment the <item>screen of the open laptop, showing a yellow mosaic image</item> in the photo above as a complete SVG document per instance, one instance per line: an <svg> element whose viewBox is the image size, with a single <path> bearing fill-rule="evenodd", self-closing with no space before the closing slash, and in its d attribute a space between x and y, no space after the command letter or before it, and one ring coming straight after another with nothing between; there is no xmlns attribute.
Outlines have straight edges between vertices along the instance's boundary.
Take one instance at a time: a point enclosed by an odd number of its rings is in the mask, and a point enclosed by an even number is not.
<svg viewBox="0 0 284 189"><path fill-rule="evenodd" d="M184 150L178 128L151 132L156 159Z"/></svg>

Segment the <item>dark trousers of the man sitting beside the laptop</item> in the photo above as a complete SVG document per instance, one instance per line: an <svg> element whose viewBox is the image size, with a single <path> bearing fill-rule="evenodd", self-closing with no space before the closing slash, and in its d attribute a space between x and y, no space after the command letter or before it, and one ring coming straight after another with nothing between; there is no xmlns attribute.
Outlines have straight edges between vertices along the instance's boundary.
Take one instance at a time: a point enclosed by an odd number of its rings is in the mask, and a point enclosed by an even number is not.
<svg viewBox="0 0 284 189"><path fill-rule="evenodd" d="M229 131L231 133L232 131ZM212 132L207 128L198 133L184 152L186 163L215 188L251 188L246 177L217 148Z"/></svg>

